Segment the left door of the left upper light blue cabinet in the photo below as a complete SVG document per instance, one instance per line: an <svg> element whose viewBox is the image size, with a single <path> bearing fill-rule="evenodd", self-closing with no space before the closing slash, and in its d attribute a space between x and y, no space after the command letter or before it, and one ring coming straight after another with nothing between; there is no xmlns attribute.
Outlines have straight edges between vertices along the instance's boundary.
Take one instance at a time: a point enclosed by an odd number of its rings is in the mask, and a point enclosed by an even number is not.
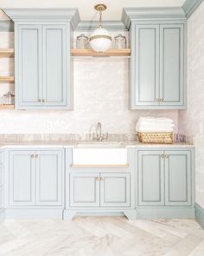
<svg viewBox="0 0 204 256"><path fill-rule="evenodd" d="M41 25L18 25L16 107L41 105Z"/></svg>

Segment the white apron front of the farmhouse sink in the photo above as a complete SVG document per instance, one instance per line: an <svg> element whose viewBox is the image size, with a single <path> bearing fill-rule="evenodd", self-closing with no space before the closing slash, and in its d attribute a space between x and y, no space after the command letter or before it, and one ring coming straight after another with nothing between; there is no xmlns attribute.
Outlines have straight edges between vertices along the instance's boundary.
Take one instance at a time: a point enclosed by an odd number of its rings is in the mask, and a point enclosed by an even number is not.
<svg viewBox="0 0 204 256"><path fill-rule="evenodd" d="M82 144L81 144L82 145ZM127 148L117 147L91 147L87 144L86 147L73 148L73 166L124 166L127 165ZM101 143L96 144L101 145Z"/></svg>

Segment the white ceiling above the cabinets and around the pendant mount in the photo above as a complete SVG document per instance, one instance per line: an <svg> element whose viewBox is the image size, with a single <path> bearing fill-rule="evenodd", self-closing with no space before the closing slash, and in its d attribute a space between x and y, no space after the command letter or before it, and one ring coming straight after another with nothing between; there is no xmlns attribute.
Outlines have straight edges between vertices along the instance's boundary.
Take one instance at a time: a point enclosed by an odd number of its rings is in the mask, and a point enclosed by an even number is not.
<svg viewBox="0 0 204 256"><path fill-rule="evenodd" d="M0 8L78 8L81 20L96 20L98 15L93 10L96 3L105 3L104 20L121 20L124 7L168 7L182 6L185 0L1 0ZM0 13L0 19L6 19Z"/></svg>

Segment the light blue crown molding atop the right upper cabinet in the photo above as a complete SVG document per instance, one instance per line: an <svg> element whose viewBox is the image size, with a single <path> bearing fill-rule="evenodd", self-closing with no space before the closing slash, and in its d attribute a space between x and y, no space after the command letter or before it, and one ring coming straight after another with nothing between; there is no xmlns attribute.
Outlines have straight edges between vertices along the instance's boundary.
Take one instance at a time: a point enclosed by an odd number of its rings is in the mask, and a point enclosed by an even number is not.
<svg viewBox="0 0 204 256"><path fill-rule="evenodd" d="M129 30L132 21L186 19L182 7L124 8L122 21Z"/></svg>

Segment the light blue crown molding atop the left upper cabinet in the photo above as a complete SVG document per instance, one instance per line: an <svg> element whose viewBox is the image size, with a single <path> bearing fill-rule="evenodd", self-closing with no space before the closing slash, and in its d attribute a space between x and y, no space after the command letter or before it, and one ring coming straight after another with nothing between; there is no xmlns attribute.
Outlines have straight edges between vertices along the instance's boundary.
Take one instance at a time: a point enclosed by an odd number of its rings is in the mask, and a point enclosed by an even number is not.
<svg viewBox="0 0 204 256"><path fill-rule="evenodd" d="M29 20L55 20L70 22L73 29L80 22L80 14L77 9L3 9L14 22Z"/></svg>

